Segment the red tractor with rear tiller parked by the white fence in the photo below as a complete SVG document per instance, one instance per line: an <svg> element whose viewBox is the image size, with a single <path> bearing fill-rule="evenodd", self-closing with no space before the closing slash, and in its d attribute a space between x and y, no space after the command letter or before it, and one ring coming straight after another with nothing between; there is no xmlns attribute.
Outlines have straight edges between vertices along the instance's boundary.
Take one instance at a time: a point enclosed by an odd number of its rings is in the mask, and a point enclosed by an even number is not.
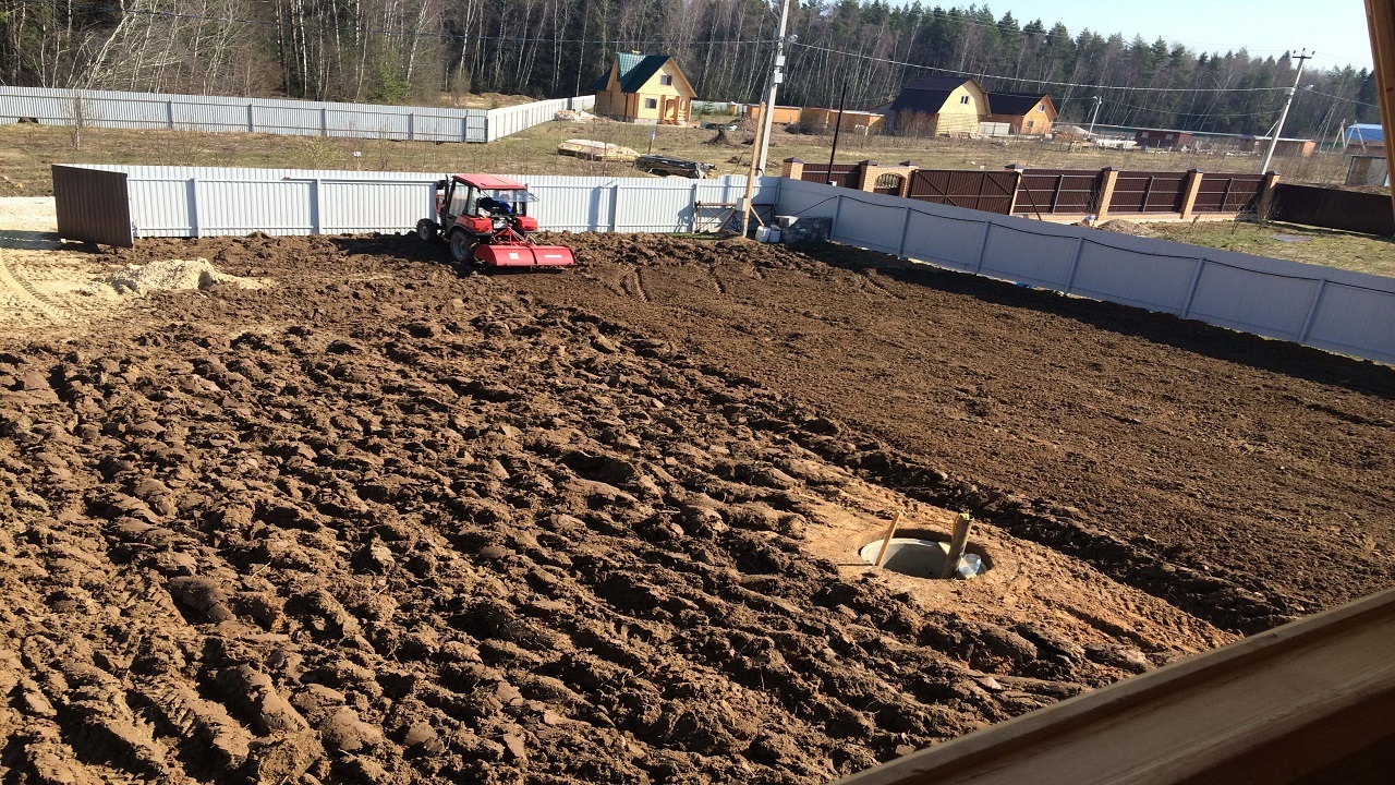
<svg viewBox="0 0 1395 785"><path fill-rule="evenodd" d="M480 267L572 267L572 249L538 246L529 239L537 218L527 214L537 197L527 186L495 175L455 175L437 183L435 219L417 222L417 236L445 235L458 264Z"/></svg>

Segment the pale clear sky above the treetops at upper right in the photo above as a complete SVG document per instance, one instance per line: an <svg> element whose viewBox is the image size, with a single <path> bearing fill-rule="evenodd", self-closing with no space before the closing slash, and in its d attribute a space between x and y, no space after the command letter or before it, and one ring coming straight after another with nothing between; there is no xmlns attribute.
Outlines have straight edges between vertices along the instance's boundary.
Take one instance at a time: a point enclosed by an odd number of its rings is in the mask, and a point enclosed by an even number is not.
<svg viewBox="0 0 1395 785"><path fill-rule="evenodd" d="M968 6L958 0L921 4ZM1049 28L1062 22L1071 35L1088 28L1102 35L1122 32L1126 41L1134 34L1148 42L1162 36L1198 53L1246 47L1260 57L1307 47L1317 52L1307 61L1310 68L1371 67L1363 0L988 0L986 6L997 18L1011 11L1018 24L1039 18Z"/></svg>

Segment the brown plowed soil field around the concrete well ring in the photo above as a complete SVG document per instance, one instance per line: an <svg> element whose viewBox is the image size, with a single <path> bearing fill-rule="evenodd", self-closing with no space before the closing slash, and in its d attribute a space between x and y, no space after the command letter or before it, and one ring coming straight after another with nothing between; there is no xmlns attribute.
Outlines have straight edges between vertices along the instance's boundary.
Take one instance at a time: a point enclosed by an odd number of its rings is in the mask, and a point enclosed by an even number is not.
<svg viewBox="0 0 1395 785"><path fill-rule="evenodd" d="M43 251L261 288L0 337L0 781L817 784L1392 582L1388 367L838 247L564 240ZM869 567L898 513L971 513L990 568Z"/></svg>

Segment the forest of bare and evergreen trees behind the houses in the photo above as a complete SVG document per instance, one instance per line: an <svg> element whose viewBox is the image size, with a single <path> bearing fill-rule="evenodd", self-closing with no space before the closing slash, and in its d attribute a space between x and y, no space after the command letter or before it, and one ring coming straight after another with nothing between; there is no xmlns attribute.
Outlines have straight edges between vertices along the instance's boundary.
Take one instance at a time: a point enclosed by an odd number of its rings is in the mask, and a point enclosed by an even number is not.
<svg viewBox="0 0 1395 785"><path fill-rule="evenodd" d="M438 103L580 95L617 50L678 59L698 95L759 101L778 0L0 0L0 82ZM1267 133L1296 60L1071 32L988 6L797 1L781 103L872 109L940 68L1049 94L1063 120ZM1085 87L1077 87L1085 85ZM1108 87L1088 87L1108 85ZM1138 89L1148 88L1148 89ZM1366 68L1310 67L1285 135L1377 122Z"/></svg>

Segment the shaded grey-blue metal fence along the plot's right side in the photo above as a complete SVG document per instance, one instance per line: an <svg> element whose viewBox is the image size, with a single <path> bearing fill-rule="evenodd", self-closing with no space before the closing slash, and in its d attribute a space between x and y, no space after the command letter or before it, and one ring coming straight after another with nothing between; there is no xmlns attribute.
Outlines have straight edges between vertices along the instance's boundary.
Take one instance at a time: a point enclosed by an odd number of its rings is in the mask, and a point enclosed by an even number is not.
<svg viewBox="0 0 1395 785"><path fill-rule="evenodd" d="M785 180L781 215L905 258L1395 363L1395 278Z"/></svg>

